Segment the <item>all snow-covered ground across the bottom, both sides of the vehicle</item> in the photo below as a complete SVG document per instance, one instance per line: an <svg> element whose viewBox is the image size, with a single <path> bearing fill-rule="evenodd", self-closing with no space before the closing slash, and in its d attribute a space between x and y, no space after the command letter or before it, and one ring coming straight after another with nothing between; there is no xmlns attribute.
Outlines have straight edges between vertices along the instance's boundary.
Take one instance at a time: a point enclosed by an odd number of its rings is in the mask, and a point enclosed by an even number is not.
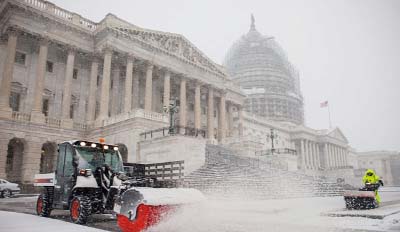
<svg viewBox="0 0 400 232"><path fill-rule="evenodd" d="M382 189L379 210L400 210L400 192ZM18 211L28 207L34 213L36 197L0 199L0 206L12 206ZM24 204L21 204L24 203ZM0 207L1 208L1 207ZM400 213L384 219L363 217L329 217L327 212L344 210L343 197L315 197L281 200L210 198L187 205L169 215L148 232L258 232L258 231L400 231ZM4 210L11 210L2 208ZM26 211L21 211L26 212ZM376 212L374 210L366 213ZM54 212L56 214L57 212ZM103 220L103 219L101 219ZM67 220L68 221L68 220ZM95 220L95 222L97 222ZM116 221L104 221L116 225ZM98 227L92 222L94 227ZM101 227L108 229L109 227ZM35 215L0 211L0 231L100 231L62 220ZM115 230L114 230L115 231Z"/></svg>

